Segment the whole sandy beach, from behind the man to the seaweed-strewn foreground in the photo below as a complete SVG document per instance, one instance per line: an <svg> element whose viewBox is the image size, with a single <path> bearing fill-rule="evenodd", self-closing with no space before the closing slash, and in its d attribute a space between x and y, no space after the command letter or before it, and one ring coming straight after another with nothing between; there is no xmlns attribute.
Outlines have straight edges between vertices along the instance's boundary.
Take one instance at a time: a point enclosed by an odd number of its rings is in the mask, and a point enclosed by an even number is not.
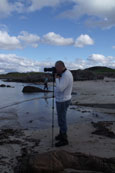
<svg viewBox="0 0 115 173"><path fill-rule="evenodd" d="M84 114L90 108L91 111L93 110L92 112L95 112L92 116L96 116L98 121L82 120L69 125L68 146L52 147L51 128L44 130L1 129L0 173L17 173L17 165L26 155L37 155L49 151L64 150L99 158L115 159L115 82L101 80L74 82L72 105L77 105L73 109L84 111ZM113 119L110 118L109 121L101 119L100 112L111 115ZM83 118L81 117L81 119ZM54 128L54 135L57 133L58 128ZM68 171L72 172L69 169L65 170L65 172ZM85 171L81 172L85 173Z"/></svg>

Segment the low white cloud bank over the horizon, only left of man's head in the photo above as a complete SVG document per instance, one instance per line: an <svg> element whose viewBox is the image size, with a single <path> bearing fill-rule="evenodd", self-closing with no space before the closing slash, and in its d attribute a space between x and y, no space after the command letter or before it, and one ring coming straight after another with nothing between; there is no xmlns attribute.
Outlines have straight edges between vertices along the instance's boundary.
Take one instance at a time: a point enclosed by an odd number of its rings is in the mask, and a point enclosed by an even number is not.
<svg viewBox="0 0 115 173"><path fill-rule="evenodd" d="M44 67L50 67L51 62L39 62L28 58L19 57L15 54L0 54L0 72L29 72L43 71Z"/></svg>

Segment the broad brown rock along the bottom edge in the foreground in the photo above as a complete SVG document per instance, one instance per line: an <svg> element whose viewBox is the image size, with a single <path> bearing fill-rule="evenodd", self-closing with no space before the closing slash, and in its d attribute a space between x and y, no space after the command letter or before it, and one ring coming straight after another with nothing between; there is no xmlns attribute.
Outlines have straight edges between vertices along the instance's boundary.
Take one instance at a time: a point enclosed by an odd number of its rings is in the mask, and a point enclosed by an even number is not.
<svg viewBox="0 0 115 173"><path fill-rule="evenodd" d="M25 165L24 163L22 162L21 165L21 173L61 173L65 169L74 169L76 172L91 171L92 173L115 172L115 158L99 158L63 150L33 155L27 158Z"/></svg>

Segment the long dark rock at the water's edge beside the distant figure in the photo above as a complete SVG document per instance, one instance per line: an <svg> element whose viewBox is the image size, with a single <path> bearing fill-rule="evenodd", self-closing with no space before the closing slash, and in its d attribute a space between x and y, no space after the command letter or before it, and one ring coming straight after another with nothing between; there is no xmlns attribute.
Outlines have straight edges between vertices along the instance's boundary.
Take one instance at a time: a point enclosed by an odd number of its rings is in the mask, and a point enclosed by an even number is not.
<svg viewBox="0 0 115 173"><path fill-rule="evenodd" d="M51 91L43 90L41 88L34 87L34 86L25 86L23 88L22 92L23 93L33 93L33 92L51 92Z"/></svg>

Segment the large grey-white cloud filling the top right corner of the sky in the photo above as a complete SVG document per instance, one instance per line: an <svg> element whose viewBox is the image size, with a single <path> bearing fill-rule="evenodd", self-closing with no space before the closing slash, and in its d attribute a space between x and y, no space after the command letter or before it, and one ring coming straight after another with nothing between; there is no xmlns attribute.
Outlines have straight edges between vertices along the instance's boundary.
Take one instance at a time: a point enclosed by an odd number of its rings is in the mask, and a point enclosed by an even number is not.
<svg viewBox="0 0 115 173"><path fill-rule="evenodd" d="M115 26L115 0L71 0L73 9L65 11L62 16L76 18L87 15L86 23L90 26L110 28ZM93 17L93 19L92 19Z"/></svg>

